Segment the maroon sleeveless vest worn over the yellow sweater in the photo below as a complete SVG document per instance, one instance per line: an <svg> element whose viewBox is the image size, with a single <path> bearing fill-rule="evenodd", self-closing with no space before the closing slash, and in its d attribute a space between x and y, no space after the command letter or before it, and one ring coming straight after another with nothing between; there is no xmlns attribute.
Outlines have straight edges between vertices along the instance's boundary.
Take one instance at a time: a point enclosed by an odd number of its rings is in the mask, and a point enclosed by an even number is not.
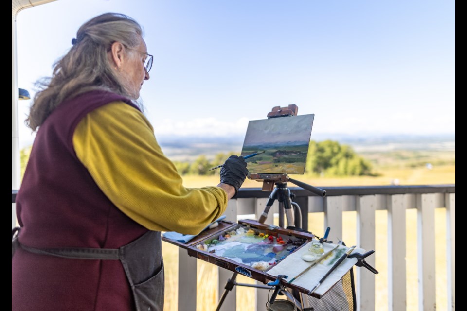
<svg viewBox="0 0 467 311"><path fill-rule="evenodd" d="M40 126L16 200L22 244L118 248L147 231L110 202L73 149L77 124L113 101L138 109L122 96L91 91L60 104ZM131 299L118 260L21 250L12 261L12 310L131 310Z"/></svg>

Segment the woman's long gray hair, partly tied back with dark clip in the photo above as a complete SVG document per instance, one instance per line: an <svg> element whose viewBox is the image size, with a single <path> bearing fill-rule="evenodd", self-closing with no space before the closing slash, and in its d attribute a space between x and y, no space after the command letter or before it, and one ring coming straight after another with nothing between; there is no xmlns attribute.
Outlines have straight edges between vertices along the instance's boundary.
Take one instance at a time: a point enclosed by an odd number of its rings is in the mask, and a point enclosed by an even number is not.
<svg viewBox="0 0 467 311"><path fill-rule="evenodd" d="M140 43L141 36L140 24L124 14L105 13L83 24L72 40L70 51L54 64L52 77L36 82L39 91L26 125L36 131L64 100L93 89L127 96L107 53L113 42L132 48Z"/></svg>

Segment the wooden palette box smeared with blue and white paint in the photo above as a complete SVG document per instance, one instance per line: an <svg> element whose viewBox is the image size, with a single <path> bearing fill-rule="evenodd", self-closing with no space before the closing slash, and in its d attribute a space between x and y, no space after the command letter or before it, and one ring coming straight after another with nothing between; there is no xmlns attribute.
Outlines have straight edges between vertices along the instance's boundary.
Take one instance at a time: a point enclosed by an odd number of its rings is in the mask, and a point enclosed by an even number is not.
<svg viewBox="0 0 467 311"><path fill-rule="evenodd" d="M187 244L162 239L186 248L190 256L267 283L276 279L268 274L272 267L313 238L310 232L241 220L238 224L220 221L219 226L203 231Z"/></svg>

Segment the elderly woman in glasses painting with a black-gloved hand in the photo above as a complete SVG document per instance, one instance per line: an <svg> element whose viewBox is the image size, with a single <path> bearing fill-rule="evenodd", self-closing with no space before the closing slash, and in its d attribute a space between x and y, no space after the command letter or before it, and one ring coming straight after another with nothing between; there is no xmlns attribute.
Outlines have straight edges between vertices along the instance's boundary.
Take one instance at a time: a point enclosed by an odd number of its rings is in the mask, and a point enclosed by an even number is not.
<svg viewBox="0 0 467 311"><path fill-rule="evenodd" d="M140 25L90 19L27 124L37 131L17 196L12 310L163 310L161 231L198 234L248 170L231 156L217 186L185 188L135 103L149 80Z"/></svg>

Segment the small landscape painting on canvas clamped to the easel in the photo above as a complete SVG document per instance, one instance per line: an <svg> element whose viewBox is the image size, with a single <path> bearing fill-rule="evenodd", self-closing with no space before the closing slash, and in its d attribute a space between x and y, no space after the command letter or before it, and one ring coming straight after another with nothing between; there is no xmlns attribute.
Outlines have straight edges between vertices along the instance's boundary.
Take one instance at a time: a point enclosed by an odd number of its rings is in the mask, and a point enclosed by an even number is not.
<svg viewBox="0 0 467 311"><path fill-rule="evenodd" d="M246 160L251 173L303 174L314 114L287 116L248 123L242 156L263 152Z"/></svg>

